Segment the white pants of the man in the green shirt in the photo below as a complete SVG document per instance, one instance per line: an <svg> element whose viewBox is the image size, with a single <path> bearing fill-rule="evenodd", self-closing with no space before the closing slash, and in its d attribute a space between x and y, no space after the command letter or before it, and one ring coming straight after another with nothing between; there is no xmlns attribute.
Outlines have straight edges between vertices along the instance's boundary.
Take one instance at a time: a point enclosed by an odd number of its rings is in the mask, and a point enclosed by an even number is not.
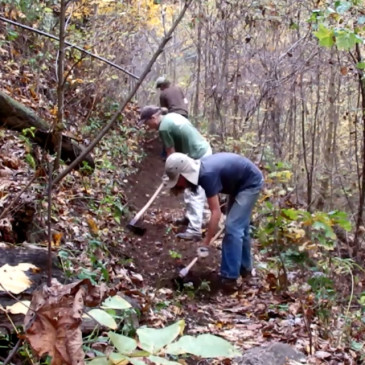
<svg viewBox="0 0 365 365"><path fill-rule="evenodd" d="M211 154L212 149L209 147L208 151L200 159ZM198 186L195 192L189 188L184 190L185 217L189 220L187 232L201 234L206 199L205 191L201 186Z"/></svg>

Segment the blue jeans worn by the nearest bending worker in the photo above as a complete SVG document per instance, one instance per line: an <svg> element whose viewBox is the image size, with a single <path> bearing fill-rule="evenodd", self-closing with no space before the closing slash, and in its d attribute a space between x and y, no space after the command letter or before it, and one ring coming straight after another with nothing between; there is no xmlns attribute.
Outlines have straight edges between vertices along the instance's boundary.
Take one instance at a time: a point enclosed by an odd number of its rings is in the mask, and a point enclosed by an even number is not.
<svg viewBox="0 0 365 365"><path fill-rule="evenodd" d="M250 220L261 189L262 184L229 197L222 242L221 276L224 278L237 279L252 270Z"/></svg>

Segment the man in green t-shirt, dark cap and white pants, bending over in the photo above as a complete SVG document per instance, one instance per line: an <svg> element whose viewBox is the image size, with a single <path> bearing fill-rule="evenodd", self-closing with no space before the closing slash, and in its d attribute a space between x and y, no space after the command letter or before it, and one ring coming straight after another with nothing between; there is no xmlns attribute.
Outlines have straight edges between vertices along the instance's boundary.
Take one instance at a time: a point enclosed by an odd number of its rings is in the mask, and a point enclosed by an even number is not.
<svg viewBox="0 0 365 365"><path fill-rule="evenodd" d="M146 125L150 129L158 130L160 138L166 148L167 156L174 152L188 155L194 160L200 160L212 154L208 141L189 122L178 113L167 113L158 106L148 105L142 108L139 125ZM187 223L185 232L177 237L186 240L200 240L203 223L205 192L201 187L192 191L185 189L184 201L186 205L185 217L180 223Z"/></svg>

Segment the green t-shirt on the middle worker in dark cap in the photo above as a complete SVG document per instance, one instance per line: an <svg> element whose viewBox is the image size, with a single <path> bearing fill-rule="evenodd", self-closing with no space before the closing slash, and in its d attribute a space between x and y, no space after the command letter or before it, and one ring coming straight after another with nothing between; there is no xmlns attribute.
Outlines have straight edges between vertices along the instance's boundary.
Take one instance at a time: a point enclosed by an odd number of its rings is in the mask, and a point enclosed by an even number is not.
<svg viewBox="0 0 365 365"><path fill-rule="evenodd" d="M208 151L207 140L180 114L166 114L161 120L158 132L166 148L174 147L176 152L184 153L195 160Z"/></svg>

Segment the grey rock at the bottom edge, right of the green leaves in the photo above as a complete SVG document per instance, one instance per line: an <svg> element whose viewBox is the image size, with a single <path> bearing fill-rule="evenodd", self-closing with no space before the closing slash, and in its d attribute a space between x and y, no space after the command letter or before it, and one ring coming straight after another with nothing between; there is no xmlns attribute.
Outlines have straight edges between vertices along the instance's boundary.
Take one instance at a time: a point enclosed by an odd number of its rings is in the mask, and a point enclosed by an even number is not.
<svg viewBox="0 0 365 365"><path fill-rule="evenodd" d="M275 342L268 346L254 347L235 359L236 365L285 365L288 360L305 363L305 356L293 347Z"/></svg>

